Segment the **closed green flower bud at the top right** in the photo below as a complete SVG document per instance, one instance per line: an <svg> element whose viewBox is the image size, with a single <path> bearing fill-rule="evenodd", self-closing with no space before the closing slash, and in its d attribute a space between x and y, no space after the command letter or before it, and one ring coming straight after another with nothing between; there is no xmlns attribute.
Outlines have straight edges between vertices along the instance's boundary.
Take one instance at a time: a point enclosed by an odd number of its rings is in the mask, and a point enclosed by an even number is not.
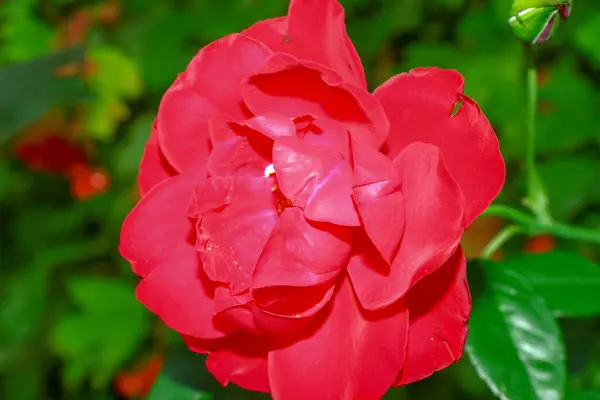
<svg viewBox="0 0 600 400"><path fill-rule="evenodd" d="M571 13L572 0L515 0L508 20L513 33L531 44L550 39Z"/></svg>

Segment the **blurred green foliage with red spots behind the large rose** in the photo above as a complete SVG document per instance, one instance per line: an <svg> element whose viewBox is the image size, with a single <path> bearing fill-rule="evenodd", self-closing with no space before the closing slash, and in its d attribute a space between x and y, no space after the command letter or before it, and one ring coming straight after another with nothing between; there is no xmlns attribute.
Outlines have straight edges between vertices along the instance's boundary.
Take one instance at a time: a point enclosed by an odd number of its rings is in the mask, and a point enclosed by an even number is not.
<svg viewBox="0 0 600 400"><path fill-rule="evenodd" d="M341 2L371 88L418 66L465 76L466 91L491 120L507 161L500 200L518 206L526 110L522 48L506 23L511 2ZM539 168L553 216L597 228L600 3L574 3L567 24L538 54ZM210 41L284 15L287 5L0 2L0 399L143 398L163 365L215 398L262 398L217 388L201 357L178 349L176 335L135 300L137 278L116 249L120 224L138 199L144 143L176 74ZM502 224L479 220L464 239L468 255L476 257ZM513 240L497 257L554 249L600 257L598 246L552 237ZM600 390L598 319L561 326L569 387ZM492 395L465 357L390 398Z"/></svg>

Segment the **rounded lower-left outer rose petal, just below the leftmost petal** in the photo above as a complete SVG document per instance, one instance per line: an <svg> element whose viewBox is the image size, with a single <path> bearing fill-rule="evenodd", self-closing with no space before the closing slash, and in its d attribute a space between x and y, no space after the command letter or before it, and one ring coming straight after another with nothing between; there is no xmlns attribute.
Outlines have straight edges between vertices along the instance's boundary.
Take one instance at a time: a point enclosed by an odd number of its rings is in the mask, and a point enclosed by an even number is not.
<svg viewBox="0 0 600 400"><path fill-rule="evenodd" d="M237 330L213 316L212 295L199 257L173 259L159 265L136 289L136 296L171 329L202 339L216 339Z"/></svg>

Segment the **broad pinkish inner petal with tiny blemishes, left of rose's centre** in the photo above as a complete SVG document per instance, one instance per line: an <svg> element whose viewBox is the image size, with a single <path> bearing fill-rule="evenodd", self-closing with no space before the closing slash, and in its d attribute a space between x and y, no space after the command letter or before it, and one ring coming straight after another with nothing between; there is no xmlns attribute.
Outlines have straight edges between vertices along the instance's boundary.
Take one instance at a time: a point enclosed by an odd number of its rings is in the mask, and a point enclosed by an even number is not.
<svg viewBox="0 0 600 400"><path fill-rule="evenodd" d="M213 281L234 294L250 287L254 266L275 224L273 182L265 178L210 178L196 191L196 248Z"/></svg>

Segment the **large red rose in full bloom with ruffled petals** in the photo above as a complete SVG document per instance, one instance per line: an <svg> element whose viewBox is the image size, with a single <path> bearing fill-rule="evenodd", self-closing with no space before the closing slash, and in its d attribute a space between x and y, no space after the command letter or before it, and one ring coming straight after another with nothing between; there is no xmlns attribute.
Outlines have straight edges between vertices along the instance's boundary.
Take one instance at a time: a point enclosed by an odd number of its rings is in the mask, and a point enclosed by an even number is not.
<svg viewBox="0 0 600 400"><path fill-rule="evenodd" d="M221 383L379 399L461 357L459 240L503 182L457 72L370 94L340 4L292 0L167 91L120 251L139 300Z"/></svg>

